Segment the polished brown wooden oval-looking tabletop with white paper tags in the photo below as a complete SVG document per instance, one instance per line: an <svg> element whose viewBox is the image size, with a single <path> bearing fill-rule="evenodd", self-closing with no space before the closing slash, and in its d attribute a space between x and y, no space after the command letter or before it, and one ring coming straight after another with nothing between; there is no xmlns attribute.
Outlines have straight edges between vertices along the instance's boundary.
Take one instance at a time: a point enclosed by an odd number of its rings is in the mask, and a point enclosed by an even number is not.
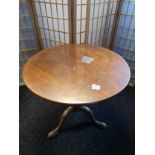
<svg viewBox="0 0 155 155"><path fill-rule="evenodd" d="M92 45L61 45L35 54L23 79L38 96L63 104L90 104L119 93L130 69L118 54Z"/></svg>

